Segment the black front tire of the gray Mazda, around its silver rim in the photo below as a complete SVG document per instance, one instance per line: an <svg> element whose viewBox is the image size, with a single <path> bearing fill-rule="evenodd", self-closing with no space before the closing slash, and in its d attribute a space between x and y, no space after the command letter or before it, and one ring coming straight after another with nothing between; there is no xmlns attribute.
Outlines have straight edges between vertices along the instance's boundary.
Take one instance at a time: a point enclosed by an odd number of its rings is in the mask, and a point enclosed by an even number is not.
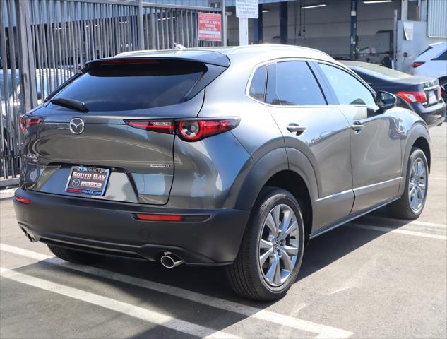
<svg viewBox="0 0 447 339"><path fill-rule="evenodd" d="M415 210L410 204L410 177L412 165L416 160L422 160L425 166L425 194L422 205ZM419 218L419 215L424 210L425 201L427 200L427 193L429 189L429 165L425 153L420 148L412 148L410 157L408 157L407 176L405 179L405 188L403 195L399 200L394 201L388 205L388 212L394 218L414 220Z"/></svg>

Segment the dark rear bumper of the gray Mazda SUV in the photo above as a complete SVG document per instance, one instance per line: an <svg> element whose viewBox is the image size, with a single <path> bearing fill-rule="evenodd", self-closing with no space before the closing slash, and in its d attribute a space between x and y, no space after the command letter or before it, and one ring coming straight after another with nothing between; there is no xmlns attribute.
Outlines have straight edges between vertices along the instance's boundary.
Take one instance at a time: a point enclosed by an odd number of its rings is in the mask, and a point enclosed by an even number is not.
<svg viewBox="0 0 447 339"><path fill-rule="evenodd" d="M232 263L249 218L246 210L168 210L21 189L16 195L31 201L14 198L18 225L32 240L150 261L169 251L191 265ZM136 213L187 215L190 221L143 221Z"/></svg>

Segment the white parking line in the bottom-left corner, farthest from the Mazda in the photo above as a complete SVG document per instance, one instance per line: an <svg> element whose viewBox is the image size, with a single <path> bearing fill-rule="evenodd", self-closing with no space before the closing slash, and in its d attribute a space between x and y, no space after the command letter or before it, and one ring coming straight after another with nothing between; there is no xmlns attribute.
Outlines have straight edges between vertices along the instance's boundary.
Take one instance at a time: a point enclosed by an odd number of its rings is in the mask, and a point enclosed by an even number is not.
<svg viewBox="0 0 447 339"><path fill-rule="evenodd" d="M150 311L150 309L144 309L143 307L138 307L126 302L119 302L118 300L103 297L102 295L97 295L95 293L90 293L66 285L53 283L52 281L35 278L31 275L18 273L14 270L0 268L0 275L4 278L14 280L18 283L23 283L40 288L41 290L54 292L59 295L71 297L73 299L78 299L83 302L88 302L89 304L104 307L105 309L111 309L112 311L117 311L121 314L133 316L134 318L138 318L144 321L149 321L150 323L155 323L157 325L171 328L172 330L180 331L182 333L197 335L199 337L205 338L240 338L237 337L237 335L231 335L222 331L216 331L212 328L207 328L204 326L196 325L194 323L190 323L189 321L175 319L172 318L172 316L167 316L156 311Z"/></svg>

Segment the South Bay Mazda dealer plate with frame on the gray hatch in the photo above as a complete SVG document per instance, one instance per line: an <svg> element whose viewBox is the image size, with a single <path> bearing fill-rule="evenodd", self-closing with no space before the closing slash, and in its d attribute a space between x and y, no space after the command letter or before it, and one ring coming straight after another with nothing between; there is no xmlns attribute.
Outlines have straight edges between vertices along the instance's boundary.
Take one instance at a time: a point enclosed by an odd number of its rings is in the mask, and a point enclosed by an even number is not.
<svg viewBox="0 0 447 339"><path fill-rule="evenodd" d="M73 166L65 191L90 196L104 196L110 170L99 167Z"/></svg>

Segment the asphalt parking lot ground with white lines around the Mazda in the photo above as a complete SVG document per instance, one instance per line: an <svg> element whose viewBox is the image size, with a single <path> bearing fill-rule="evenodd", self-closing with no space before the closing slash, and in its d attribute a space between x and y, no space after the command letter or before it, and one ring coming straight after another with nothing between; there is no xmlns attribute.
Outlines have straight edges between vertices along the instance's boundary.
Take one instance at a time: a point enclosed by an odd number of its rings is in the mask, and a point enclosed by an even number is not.
<svg viewBox="0 0 447 339"><path fill-rule="evenodd" d="M221 268L65 263L28 241L2 194L0 337L446 338L446 127L430 131L422 216L383 209L314 239L297 283L273 303L234 295Z"/></svg>

